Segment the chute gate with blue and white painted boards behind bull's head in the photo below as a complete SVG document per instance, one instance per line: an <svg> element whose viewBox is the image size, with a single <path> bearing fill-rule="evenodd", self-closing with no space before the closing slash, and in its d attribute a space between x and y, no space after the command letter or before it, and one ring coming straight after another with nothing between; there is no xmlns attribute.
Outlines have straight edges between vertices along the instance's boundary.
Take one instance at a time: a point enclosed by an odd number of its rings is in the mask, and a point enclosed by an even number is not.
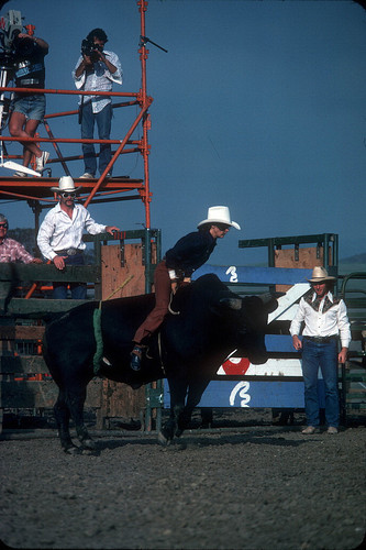
<svg viewBox="0 0 366 550"><path fill-rule="evenodd" d="M268 316L266 346L269 359L253 365L246 358L228 358L220 365L199 404L201 407L271 408L302 410L303 382L301 354L292 348L289 326L301 296L310 288L314 265L323 265L339 279L335 293L344 298L351 321L352 344L346 364L339 365L342 417L347 413L366 411L366 273L339 274L339 235L321 233L239 241L240 249L267 249L267 266L210 266L196 272L215 273L242 296L270 290L285 293L278 308ZM358 286L353 288L351 282ZM319 378L320 395L324 395ZM324 403L324 397L322 398ZM165 398L168 406L168 398Z"/></svg>

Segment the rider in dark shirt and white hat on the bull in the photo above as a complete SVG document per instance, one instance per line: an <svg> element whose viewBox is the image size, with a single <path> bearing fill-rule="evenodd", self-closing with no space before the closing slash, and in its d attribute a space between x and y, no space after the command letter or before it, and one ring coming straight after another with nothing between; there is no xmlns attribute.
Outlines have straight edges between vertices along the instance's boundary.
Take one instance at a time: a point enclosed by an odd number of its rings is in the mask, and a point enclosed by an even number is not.
<svg viewBox="0 0 366 550"><path fill-rule="evenodd" d="M207 219L200 221L197 228L198 231L179 239L155 270L155 307L133 338L133 371L141 370L144 344L162 324L168 311L170 294L175 294L179 285L190 283L193 271L209 260L218 239L223 239L230 228L241 229L239 223L231 220L229 208L225 206L210 207Z"/></svg>

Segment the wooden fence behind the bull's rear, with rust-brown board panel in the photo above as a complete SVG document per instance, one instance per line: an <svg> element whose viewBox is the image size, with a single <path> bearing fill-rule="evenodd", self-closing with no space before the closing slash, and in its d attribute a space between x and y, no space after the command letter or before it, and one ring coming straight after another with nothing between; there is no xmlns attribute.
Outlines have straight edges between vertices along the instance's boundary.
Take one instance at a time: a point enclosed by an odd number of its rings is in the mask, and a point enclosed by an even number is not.
<svg viewBox="0 0 366 550"><path fill-rule="evenodd" d="M67 280L91 283L96 297L107 299L127 278L130 283L113 298L144 294L151 286L159 254L159 235L156 232L146 234L146 231L134 231L131 235L140 239L143 235L143 242L125 243L123 240L122 245L121 242L102 245L98 251L98 264L67 266L66 273L46 264L0 264L0 430L4 409L54 406L58 389L42 356L45 319L49 314L67 311L84 302L54 300L42 297L42 293L41 297L29 299L19 295L24 295L34 282L42 287L47 282ZM99 237L100 243L102 239L104 237ZM107 235L106 240L109 240ZM95 409L98 429L113 417L137 418L144 429L151 429L154 415L145 393L148 395L153 391L151 386L133 391L126 384L95 377L88 385L86 407Z"/></svg>

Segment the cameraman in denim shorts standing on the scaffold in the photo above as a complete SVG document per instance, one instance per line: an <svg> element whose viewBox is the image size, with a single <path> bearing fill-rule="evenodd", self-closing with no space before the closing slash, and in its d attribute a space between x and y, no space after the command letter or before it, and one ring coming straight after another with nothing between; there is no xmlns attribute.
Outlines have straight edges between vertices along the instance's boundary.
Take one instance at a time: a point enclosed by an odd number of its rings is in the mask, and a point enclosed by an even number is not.
<svg viewBox="0 0 366 550"><path fill-rule="evenodd" d="M15 88L44 88L44 57L48 53L48 44L38 37L19 33L13 41ZM22 142L22 138L33 138L43 120L46 109L44 94L18 91L11 102L9 132L19 138L23 145L23 166L29 166L32 155L35 155L36 170L43 170L49 153L41 151L35 142ZM26 173L15 172L14 176L25 177Z"/></svg>

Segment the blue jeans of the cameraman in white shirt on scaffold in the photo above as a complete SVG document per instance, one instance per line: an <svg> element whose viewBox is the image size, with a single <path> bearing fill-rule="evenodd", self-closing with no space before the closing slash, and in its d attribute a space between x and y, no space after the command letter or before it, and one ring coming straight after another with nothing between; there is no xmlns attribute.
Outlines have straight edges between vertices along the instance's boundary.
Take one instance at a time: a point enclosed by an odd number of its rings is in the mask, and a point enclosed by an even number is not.
<svg viewBox="0 0 366 550"><path fill-rule="evenodd" d="M93 113L91 101L82 106L81 139L92 140L95 135L95 123L97 122L99 140L109 140L111 134L112 105L108 103L100 112ZM93 143L82 143L85 172L96 175L97 157ZM111 145L100 144L99 172L102 174L111 160ZM110 170L110 174L112 170Z"/></svg>

